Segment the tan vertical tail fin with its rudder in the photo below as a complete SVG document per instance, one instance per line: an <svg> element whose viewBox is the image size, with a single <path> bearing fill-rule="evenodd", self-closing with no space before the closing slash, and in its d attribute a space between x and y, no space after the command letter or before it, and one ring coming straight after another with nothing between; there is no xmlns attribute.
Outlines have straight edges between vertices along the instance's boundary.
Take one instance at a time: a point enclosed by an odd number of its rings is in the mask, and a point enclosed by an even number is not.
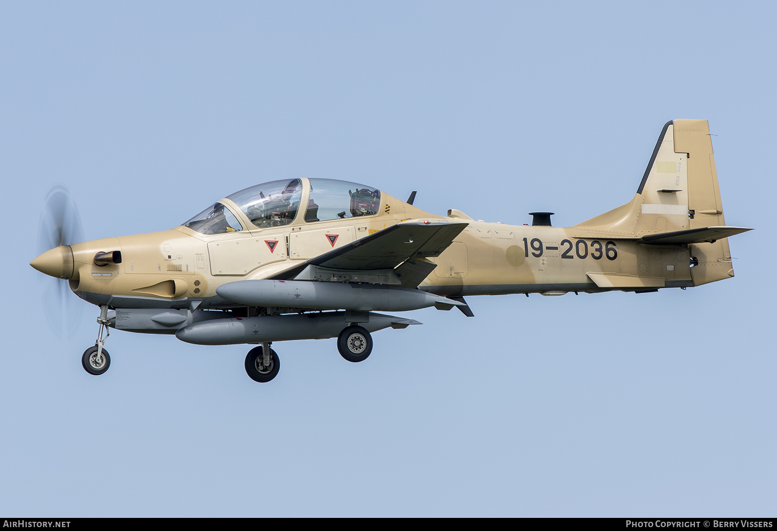
<svg viewBox="0 0 777 531"><path fill-rule="evenodd" d="M707 120L673 120L661 130L634 199L575 228L601 237L643 238L725 224ZM695 286L733 276L726 238L688 248L698 262L691 269Z"/></svg>

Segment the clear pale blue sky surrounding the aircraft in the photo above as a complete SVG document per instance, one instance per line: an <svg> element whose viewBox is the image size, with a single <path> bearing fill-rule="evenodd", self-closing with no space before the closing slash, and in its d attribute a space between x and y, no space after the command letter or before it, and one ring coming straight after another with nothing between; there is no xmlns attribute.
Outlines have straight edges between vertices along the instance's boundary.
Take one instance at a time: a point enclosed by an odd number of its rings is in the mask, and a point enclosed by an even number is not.
<svg viewBox="0 0 777 531"><path fill-rule="evenodd" d="M771 2L0 2L0 513L763 516L777 508ZM84 238L238 189L345 179L416 206L579 223L661 127L709 120L736 277L470 297L375 333L246 345L43 317L44 196Z"/></svg>

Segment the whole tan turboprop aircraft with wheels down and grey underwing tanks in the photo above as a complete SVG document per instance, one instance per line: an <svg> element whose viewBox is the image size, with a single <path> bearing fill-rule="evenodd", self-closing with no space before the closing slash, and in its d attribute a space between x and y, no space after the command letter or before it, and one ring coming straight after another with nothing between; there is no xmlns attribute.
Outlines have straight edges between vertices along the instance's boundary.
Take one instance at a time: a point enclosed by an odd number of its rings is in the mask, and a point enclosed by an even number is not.
<svg viewBox="0 0 777 531"><path fill-rule="evenodd" d="M472 311L464 297L636 293L733 276L706 120L661 130L634 198L573 227L446 216L372 186L283 179L233 193L169 231L58 241L30 265L99 306L82 365L110 366L109 328L174 334L197 345L258 345L246 373L272 380L273 342L337 338L361 362L371 333L418 321L378 312ZM61 227L57 234L64 239ZM105 334L103 336L103 334Z"/></svg>

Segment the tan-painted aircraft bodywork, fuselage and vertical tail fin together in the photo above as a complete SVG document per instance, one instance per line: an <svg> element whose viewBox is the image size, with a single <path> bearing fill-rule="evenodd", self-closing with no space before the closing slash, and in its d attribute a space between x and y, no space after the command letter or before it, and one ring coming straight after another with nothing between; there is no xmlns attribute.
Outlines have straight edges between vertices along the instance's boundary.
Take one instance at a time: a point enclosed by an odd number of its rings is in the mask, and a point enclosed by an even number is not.
<svg viewBox="0 0 777 531"><path fill-rule="evenodd" d="M298 204L313 203L310 182L301 182ZM418 287L445 296L639 292L733 276L726 238L673 245L644 239L725 224L705 120L667 123L634 199L573 227L488 223L458 210L440 217L386 193L379 197L371 215L311 221L300 208L282 226L263 228L224 199L220 203L248 228L200 234L180 226L79 243L70 246L70 275L53 276L69 278L79 297L110 307L234 307L218 297L218 286L274 278L406 221L467 224L440 255L425 258L436 267ZM120 264L96 265L97 252L116 250Z"/></svg>

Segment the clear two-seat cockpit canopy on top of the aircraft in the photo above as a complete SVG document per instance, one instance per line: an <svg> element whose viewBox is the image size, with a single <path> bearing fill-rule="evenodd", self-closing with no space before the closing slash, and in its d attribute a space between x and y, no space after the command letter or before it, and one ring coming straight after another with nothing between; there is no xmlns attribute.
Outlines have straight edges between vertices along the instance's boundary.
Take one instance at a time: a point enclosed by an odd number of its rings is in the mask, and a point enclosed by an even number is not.
<svg viewBox="0 0 777 531"><path fill-rule="evenodd" d="M242 189L226 199L239 207L253 227L282 227L298 217L304 223L374 216L381 203L381 192L371 186L334 179L284 179ZM304 208L301 208L302 201ZM208 206L186 221L200 234L242 231L239 213L226 202Z"/></svg>

